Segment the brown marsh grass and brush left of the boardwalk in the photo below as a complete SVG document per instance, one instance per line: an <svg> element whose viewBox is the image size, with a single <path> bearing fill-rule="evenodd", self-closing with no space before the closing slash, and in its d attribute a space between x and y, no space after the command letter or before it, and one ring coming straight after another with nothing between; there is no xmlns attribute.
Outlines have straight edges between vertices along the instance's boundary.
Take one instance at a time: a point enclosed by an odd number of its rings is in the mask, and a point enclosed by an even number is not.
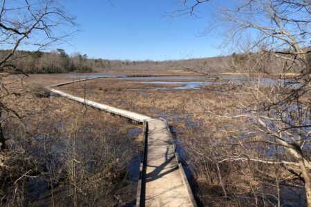
<svg viewBox="0 0 311 207"><path fill-rule="evenodd" d="M123 206L135 200L129 165L140 155L140 126L61 97L37 96L48 76L9 79L0 154L0 206ZM36 93L40 92L37 89ZM133 130L137 128L138 130Z"/></svg>

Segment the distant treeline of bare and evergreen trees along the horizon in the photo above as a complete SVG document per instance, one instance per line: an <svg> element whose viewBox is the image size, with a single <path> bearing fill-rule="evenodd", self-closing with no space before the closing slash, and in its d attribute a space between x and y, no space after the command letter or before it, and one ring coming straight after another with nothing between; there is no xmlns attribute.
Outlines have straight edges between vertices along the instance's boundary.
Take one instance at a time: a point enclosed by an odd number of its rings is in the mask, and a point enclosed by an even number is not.
<svg viewBox="0 0 311 207"><path fill-rule="evenodd" d="M0 50L5 57L9 50ZM223 57L201 59L182 59L170 61L129 61L109 59L89 59L87 55L74 53L67 55L65 50L52 52L17 51L10 64L26 73L66 73L66 72L104 72L118 70L195 70L206 74L218 72L237 72L256 68L263 72L282 72L283 59L262 57L254 53L236 54ZM293 68L291 72L299 72Z"/></svg>

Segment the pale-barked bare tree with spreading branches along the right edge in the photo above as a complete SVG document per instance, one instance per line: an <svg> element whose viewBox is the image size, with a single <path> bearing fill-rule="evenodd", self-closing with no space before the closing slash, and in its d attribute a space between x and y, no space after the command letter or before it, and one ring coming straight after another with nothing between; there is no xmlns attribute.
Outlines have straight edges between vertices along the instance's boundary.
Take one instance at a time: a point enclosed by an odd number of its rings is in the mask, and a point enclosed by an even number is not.
<svg viewBox="0 0 311 207"><path fill-rule="evenodd" d="M184 0L182 9L171 14L174 17L196 16L199 7L205 4L216 10L216 14L209 16L216 17L213 19L215 23L207 31L212 32L215 28L222 30L223 46L236 52L234 55L237 57L244 57L242 63L235 67L249 75L252 83L241 87L250 92L255 100L251 103L241 101L243 110L239 114L219 114L216 117L245 117L258 132L265 135L256 140L240 139L240 143L265 143L283 148L294 159L294 165L299 166L299 172L296 172L297 169L293 171L296 175L302 175L307 202L311 206L311 2ZM271 79L274 81L265 83ZM249 160L250 157L229 158L243 159ZM258 157L252 159L268 162ZM283 159L281 162L292 165ZM280 163L280 160L272 160L271 163Z"/></svg>

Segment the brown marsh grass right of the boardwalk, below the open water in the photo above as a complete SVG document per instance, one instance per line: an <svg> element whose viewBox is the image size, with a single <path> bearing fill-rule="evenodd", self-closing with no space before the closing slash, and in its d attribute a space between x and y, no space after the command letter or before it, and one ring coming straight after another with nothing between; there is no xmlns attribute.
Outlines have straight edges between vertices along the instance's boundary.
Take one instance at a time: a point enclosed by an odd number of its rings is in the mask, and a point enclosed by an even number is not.
<svg viewBox="0 0 311 207"><path fill-rule="evenodd" d="M185 161L193 171L198 197L205 206L274 206L279 188L301 186L301 181L283 166L272 168L254 161L226 161L228 157L265 159L275 150L279 156L285 156L270 144L241 142L249 137L256 141L266 136L245 117L229 118L256 101L247 87L226 85L204 86L201 90L153 90L154 87L160 88L160 85L97 79L64 86L61 90L151 117L167 118L185 153ZM303 190L297 189L303 195ZM281 196L283 199L288 197ZM303 199L296 198L290 202L293 205L304 203Z"/></svg>

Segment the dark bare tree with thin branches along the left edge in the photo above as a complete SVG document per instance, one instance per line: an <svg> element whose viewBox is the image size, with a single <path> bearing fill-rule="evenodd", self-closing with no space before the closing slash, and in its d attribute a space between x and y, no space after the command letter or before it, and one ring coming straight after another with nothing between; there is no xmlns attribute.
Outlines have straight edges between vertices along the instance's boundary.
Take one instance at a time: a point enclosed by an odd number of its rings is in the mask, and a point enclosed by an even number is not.
<svg viewBox="0 0 311 207"><path fill-rule="evenodd" d="M75 31L75 19L57 0L1 0L0 44L5 52L0 57L0 146L6 148L3 124L9 117L20 118L19 112L6 103L6 98L21 92L7 88L10 75L26 75L16 61L25 57L17 50L44 50L66 41Z"/></svg>

